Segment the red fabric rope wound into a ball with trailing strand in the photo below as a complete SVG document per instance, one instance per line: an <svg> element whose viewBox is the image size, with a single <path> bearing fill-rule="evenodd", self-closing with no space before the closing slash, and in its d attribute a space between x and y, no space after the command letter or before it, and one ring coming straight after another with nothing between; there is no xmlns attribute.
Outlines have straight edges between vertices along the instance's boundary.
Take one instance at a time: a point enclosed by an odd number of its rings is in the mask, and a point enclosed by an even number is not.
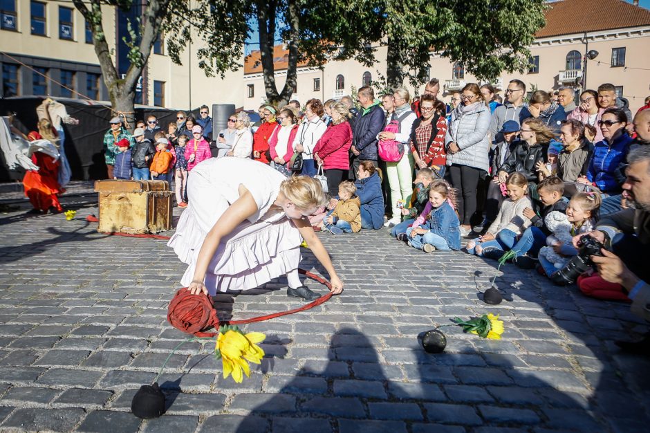
<svg viewBox="0 0 650 433"><path fill-rule="evenodd" d="M96 223L97 217L95 215L86 216L86 221L91 223ZM141 238L151 238L151 239L169 239L169 236L163 236L161 234L130 234L130 233L119 233L112 232L106 233L112 236L125 236L125 237L141 237ZM320 284L323 284L327 288L332 288L330 282L328 282L323 277L319 277L313 273L310 273L308 270L298 268L298 272L315 279ZM332 297L332 293L329 292L324 296L319 297L317 300L310 302L309 304L304 304L298 308L293 308L288 311L279 311L277 313L261 315L257 317L250 317L248 319L241 320L228 320L223 322L224 324L247 324L253 322L263 322L265 320L275 319L276 317L281 317L283 315L290 315L294 313L299 313L300 311L306 311L315 306L327 302ZM216 317L216 309L214 309L212 297L210 295L192 295L187 291L186 287L181 288L174 295L174 299L169 302L169 308L167 308L167 321L174 326L174 328L185 333L190 333L196 335L197 337L214 337L217 335L216 332L203 332L203 329L210 329L214 327L219 331L219 318Z"/></svg>

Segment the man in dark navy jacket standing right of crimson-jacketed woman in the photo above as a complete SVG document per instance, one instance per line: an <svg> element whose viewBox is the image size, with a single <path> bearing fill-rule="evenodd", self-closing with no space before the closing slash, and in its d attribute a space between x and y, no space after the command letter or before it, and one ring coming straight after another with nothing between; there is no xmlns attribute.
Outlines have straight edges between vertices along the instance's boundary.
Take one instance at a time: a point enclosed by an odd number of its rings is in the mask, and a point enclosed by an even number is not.
<svg viewBox="0 0 650 433"><path fill-rule="evenodd" d="M356 178L361 161L372 161L375 167L378 166L377 136L384 129L384 110L380 101L375 101L372 87L359 89L357 101L361 104L361 111L352 129L350 178Z"/></svg>

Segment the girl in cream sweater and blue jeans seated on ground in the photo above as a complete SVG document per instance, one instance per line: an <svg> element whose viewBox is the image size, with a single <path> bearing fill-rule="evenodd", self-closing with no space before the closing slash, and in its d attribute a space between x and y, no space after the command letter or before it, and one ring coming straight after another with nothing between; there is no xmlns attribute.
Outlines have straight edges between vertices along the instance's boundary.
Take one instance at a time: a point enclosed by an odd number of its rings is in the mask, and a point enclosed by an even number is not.
<svg viewBox="0 0 650 433"><path fill-rule="evenodd" d="M467 252L477 256L501 258L503 252L510 250L517 242L517 236L530 225L530 219L523 214L526 208L532 208L528 192L526 176L514 172L505 181L508 199L501 204L501 210L488 232L479 237L479 241L472 239L467 242Z"/></svg>

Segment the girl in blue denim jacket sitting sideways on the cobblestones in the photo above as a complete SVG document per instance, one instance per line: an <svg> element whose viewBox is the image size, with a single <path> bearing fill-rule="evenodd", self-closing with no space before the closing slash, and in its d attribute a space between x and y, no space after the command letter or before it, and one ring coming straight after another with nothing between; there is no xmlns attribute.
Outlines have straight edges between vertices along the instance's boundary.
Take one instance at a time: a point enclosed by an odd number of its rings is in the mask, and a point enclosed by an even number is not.
<svg viewBox="0 0 650 433"><path fill-rule="evenodd" d="M461 249L461 221L454 210L452 188L445 181L434 181L429 186L429 202L413 225L407 228L409 246L432 252Z"/></svg>

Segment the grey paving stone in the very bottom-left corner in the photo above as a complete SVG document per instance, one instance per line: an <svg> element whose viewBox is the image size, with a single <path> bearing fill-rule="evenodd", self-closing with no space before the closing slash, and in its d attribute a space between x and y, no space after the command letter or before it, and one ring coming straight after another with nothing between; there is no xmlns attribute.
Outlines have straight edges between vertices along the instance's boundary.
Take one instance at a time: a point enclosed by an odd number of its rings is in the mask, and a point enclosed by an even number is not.
<svg viewBox="0 0 650 433"><path fill-rule="evenodd" d="M15 409L2 423L3 427L13 427L21 431L53 430L69 432L84 416L83 409L42 409L37 407Z"/></svg>

